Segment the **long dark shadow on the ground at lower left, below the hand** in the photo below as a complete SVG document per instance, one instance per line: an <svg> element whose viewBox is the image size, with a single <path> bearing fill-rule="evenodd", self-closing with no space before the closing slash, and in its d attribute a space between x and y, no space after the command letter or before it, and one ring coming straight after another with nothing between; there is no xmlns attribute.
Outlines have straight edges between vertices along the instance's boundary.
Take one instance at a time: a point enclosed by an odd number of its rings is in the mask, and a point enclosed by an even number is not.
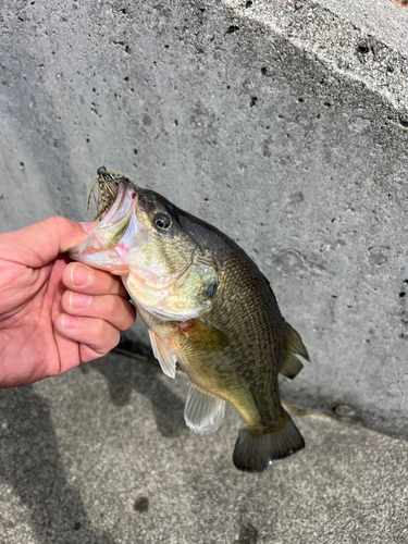
<svg viewBox="0 0 408 544"><path fill-rule="evenodd" d="M50 409L32 386L0 390L0 480L26 506L38 542L115 544L90 527L61 465Z"/></svg>

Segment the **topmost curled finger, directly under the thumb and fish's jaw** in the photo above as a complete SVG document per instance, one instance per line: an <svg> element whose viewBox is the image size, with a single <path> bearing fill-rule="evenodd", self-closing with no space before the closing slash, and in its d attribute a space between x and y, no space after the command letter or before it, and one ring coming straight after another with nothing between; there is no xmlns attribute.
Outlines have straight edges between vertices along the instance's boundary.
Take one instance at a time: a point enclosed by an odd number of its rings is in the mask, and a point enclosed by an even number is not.
<svg viewBox="0 0 408 544"><path fill-rule="evenodd" d="M121 279L104 270L97 270L79 262L65 267L62 282L71 290L88 295L119 295L128 298Z"/></svg>

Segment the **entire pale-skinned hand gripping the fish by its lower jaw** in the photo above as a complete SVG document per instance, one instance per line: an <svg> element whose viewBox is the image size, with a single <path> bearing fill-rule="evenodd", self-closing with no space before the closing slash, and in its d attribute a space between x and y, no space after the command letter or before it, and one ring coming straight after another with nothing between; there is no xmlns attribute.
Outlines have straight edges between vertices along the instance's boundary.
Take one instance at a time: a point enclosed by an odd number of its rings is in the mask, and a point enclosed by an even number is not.
<svg viewBox="0 0 408 544"><path fill-rule="evenodd" d="M121 280L66 255L94 226L53 217L0 234L0 387L98 359L134 323Z"/></svg>

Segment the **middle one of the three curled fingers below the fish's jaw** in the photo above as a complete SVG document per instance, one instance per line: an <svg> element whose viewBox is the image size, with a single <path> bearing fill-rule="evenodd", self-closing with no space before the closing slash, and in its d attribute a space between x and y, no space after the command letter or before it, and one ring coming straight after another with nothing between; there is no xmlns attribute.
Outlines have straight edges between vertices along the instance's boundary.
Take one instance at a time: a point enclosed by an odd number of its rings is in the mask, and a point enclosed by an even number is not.
<svg viewBox="0 0 408 544"><path fill-rule="evenodd" d="M120 331L129 329L136 319L135 307L118 295L92 296L65 290L61 304L71 316L103 319Z"/></svg>

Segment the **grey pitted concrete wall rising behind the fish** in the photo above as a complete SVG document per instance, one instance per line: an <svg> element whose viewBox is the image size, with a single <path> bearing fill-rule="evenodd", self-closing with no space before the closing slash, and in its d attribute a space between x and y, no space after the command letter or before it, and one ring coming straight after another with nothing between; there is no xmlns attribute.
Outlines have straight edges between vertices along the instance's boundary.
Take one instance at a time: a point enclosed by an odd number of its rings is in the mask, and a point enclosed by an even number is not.
<svg viewBox="0 0 408 544"><path fill-rule="evenodd" d="M312 359L288 400L407 437L407 12L3 0L0 14L0 227L89 219L96 169L127 172L270 279Z"/></svg>

